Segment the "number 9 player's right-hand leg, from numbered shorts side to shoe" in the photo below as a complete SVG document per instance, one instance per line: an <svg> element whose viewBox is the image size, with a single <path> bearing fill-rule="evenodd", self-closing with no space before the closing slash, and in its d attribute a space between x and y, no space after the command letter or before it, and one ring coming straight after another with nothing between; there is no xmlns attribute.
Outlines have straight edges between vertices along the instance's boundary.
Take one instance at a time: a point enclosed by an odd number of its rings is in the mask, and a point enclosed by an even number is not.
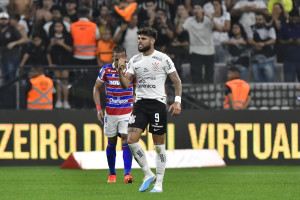
<svg viewBox="0 0 300 200"><path fill-rule="evenodd" d="M152 133L154 148L156 152L156 183L150 192L162 192L162 183L166 167L165 136L167 131L166 105L157 101L152 105L149 132Z"/></svg>

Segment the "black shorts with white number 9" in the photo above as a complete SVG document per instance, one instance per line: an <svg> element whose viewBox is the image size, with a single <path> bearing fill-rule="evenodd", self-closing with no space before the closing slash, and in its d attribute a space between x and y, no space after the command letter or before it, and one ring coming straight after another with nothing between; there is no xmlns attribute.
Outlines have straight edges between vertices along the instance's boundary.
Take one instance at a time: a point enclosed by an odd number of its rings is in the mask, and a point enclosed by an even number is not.
<svg viewBox="0 0 300 200"><path fill-rule="evenodd" d="M155 99L142 99L133 104L128 127L143 131L149 125L149 132L162 135L167 132L166 104Z"/></svg>

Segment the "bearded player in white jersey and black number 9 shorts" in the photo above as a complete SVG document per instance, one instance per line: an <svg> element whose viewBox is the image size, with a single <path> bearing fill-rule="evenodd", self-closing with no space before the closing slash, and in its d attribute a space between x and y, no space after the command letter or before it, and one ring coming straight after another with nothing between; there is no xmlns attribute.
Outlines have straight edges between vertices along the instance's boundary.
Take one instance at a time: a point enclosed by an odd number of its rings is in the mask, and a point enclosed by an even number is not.
<svg viewBox="0 0 300 200"><path fill-rule="evenodd" d="M122 70L126 67L126 60L120 59L118 63L119 79L124 89L130 87L134 76L136 77L136 100L128 124L128 144L131 152L145 173L140 192L149 189L150 184L156 183L151 193L163 192L162 182L165 173L166 151L165 134L167 125L165 81L167 76L175 86L175 102L170 106L171 116L181 112L181 80L177 74L172 60L164 53L154 49L157 31L150 27L138 30L138 50L141 52L133 56L129 63L127 73ZM147 125L152 133L156 151L156 176L151 171L145 152L139 144L141 134Z"/></svg>

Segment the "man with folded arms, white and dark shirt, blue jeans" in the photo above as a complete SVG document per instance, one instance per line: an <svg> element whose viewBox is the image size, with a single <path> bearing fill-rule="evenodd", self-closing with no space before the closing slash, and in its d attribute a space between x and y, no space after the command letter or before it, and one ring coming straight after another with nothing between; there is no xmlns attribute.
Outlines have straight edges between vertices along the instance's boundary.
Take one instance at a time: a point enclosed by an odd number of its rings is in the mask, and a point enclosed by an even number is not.
<svg viewBox="0 0 300 200"><path fill-rule="evenodd" d="M273 82L275 73L276 33L265 22L261 13L255 15L255 25L248 29L248 42L252 46L251 67L256 82Z"/></svg>

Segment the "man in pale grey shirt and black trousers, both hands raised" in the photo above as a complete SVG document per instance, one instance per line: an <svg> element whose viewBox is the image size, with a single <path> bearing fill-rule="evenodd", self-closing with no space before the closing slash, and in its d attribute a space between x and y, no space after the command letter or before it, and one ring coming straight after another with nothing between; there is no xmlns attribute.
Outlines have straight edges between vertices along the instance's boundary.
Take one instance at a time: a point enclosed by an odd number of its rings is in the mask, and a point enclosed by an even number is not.
<svg viewBox="0 0 300 200"><path fill-rule="evenodd" d="M204 15L200 5L194 5L194 16L177 26L177 33L186 30L189 33L189 53L193 83L212 83L214 77L214 43L213 29L221 27L209 14ZM202 74L204 66L205 74Z"/></svg>

